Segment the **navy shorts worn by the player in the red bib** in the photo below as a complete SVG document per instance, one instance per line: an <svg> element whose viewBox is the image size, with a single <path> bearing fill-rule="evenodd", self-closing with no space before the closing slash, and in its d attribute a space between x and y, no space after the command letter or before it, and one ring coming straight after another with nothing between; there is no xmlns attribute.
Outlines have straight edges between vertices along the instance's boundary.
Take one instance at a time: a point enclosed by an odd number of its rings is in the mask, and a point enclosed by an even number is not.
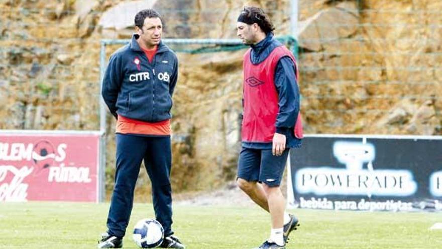
<svg viewBox="0 0 442 249"><path fill-rule="evenodd" d="M248 182L265 183L270 187L281 184L289 148L275 156L271 149L249 149L242 147L238 159L238 178Z"/></svg>

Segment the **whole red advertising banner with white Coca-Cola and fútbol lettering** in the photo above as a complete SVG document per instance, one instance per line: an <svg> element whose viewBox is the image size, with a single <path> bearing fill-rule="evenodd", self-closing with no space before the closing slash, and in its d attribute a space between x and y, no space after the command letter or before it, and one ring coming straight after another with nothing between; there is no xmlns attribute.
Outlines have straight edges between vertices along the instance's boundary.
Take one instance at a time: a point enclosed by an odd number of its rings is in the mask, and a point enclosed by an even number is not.
<svg viewBox="0 0 442 249"><path fill-rule="evenodd" d="M0 202L98 202L99 135L0 134Z"/></svg>

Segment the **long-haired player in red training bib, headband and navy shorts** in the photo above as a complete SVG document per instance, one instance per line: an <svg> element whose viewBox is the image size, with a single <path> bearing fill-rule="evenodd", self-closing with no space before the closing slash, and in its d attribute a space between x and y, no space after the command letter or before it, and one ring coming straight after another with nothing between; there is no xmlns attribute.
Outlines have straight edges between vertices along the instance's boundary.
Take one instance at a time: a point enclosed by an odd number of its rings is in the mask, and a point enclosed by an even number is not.
<svg viewBox="0 0 442 249"><path fill-rule="evenodd" d="M289 148L301 146L298 70L293 54L273 39L273 24L262 9L246 7L238 36L251 45L244 56L242 150L238 185L270 212L270 238L260 249L283 249L299 225L286 213L279 188ZM258 184L261 183L261 184Z"/></svg>

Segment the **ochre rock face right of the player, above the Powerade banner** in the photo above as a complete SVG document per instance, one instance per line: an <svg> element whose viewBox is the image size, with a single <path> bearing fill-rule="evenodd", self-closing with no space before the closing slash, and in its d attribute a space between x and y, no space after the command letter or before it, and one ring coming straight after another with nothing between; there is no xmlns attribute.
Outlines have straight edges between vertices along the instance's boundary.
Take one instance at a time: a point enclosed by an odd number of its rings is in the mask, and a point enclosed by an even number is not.
<svg viewBox="0 0 442 249"><path fill-rule="evenodd" d="M321 6L300 15L308 132L441 133L442 3L308 2Z"/></svg>

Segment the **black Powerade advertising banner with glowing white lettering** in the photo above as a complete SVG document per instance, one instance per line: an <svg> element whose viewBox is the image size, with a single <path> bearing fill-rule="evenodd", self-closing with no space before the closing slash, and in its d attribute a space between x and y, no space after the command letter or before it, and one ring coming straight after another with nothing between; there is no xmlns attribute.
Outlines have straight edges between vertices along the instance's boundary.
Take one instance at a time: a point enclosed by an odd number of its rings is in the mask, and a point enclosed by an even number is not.
<svg viewBox="0 0 442 249"><path fill-rule="evenodd" d="M290 174L298 208L441 211L442 137L310 135Z"/></svg>

